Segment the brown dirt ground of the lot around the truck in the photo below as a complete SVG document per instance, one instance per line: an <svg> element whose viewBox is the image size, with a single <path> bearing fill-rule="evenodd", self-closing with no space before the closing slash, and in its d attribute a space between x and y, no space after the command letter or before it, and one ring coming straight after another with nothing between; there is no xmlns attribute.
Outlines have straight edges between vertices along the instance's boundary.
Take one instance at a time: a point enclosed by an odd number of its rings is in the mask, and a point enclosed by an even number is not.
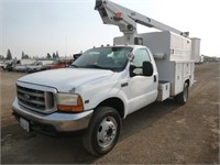
<svg viewBox="0 0 220 165"><path fill-rule="evenodd" d="M130 114L116 147L89 155L80 135L51 138L28 133L12 117L15 80L24 74L1 72L2 164L219 164L220 65L196 66L188 102L155 102Z"/></svg>

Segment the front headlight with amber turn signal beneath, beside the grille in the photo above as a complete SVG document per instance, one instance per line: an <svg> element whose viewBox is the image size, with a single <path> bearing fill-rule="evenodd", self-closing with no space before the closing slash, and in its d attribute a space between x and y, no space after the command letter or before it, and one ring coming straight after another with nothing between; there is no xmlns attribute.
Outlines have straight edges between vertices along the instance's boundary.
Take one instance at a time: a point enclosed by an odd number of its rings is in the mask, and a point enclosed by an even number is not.
<svg viewBox="0 0 220 165"><path fill-rule="evenodd" d="M84 111L82 99L79 95L57 94L57 109L65 112L81 112Z"/></svg>

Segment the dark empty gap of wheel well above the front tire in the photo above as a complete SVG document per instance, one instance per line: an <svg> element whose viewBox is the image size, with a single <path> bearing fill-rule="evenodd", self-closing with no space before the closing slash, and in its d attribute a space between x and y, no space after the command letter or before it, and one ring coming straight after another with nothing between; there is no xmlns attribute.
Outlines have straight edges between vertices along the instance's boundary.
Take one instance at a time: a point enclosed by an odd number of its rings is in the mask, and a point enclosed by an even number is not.
<svg viewBox="0 0 220 165"><path fill-rule="evenodd" d="M109 98L97 106L98 107L112 107L114 108L121 118L124 117L124 105L123 101L119 98Z"/></svg>

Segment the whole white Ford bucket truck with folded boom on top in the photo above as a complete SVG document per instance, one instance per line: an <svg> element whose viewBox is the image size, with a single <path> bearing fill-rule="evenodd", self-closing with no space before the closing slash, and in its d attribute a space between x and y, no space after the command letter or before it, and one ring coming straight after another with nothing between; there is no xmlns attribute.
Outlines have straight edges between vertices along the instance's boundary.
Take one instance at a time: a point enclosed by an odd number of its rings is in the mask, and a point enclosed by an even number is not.
<svg viewBox="0 0 220 165"><path fill-rule="evenodd" d="M111 1L97 0L95 9L103 23L123 32L117 45L88 50L69 68L20 78L12 109L26 131L85 130L84 146L103 155L116 145L128 114L170 97L187 101L194 61L188 33ZM162 32L138 34L136 23Z"/></svg>

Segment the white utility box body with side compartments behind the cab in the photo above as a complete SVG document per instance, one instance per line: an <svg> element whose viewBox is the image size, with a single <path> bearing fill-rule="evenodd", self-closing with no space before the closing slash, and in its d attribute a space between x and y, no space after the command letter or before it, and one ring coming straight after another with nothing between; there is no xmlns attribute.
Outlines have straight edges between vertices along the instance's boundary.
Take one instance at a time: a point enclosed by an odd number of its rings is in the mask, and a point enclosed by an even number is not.
<svg viewBox="0 0 220 165"><path fill-rule="evenodd" d="M114 44L123 44L125 40L125 36L114 37ZM186 79L189 79L189 87L193 86L195 62L190 38L164 31L136 34L134 43L136 41L151 50L156 62L158 80L170 84L169 91L164 88L164 84L160 84L161 96L157 100L163 101L182 92Z"/></svg>

